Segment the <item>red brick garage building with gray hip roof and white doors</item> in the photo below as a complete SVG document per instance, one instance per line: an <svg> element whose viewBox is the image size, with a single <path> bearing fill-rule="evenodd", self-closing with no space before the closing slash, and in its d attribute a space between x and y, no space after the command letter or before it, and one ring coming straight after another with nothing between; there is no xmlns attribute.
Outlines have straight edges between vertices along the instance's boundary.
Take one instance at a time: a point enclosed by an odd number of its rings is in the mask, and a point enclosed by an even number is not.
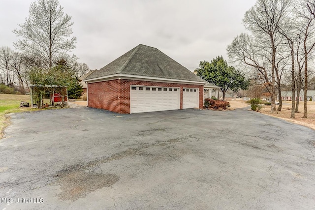
<svg viewBox="0 0 315 210"><path fill-rule="evenodd" d="M138 45L86 77L88 107L129 114L202 108L205 80L157 48Z"/></svg>

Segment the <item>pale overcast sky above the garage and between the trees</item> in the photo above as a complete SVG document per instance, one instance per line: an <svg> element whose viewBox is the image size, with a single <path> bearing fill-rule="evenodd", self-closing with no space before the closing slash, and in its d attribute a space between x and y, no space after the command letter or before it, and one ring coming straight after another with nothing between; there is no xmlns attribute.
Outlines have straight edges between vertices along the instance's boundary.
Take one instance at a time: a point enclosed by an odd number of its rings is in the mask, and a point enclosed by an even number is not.
<svg viewBox="0 0 315 210"><path fill-rule="evenodd" d="M25 22L34 0L3 0L0 46L13 49L12 32ZM245 31L244 13L256 0L60 0L72 16L72 54L100 69L138 44L156 47L189 70L200 60L226 55L226 46Z"/></svg>

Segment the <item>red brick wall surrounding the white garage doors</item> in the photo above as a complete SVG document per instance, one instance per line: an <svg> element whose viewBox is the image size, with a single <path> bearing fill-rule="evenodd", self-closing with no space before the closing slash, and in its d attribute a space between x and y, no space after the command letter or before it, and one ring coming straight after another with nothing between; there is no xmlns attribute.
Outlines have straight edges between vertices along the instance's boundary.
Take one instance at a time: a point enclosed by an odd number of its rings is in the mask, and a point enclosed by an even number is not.
<svg viewBox="0 0 315 210"><path fill-rule="evenodd" d="M161 83L126 79L88 84L88 106L128 114L130 113L130 85L178 87L181 89L181 109L183 109L183 88L199 88L199 108L203 107L203 85Z"/></svg>

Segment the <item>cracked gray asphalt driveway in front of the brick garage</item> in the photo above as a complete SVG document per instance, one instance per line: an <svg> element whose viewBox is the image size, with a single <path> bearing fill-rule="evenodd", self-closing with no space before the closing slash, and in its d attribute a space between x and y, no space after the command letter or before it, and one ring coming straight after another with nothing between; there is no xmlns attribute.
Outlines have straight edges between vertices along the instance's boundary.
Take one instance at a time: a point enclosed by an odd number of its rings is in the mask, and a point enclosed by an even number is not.
<svg viewBox="0 0 315 210"><path fill-rule="evenodd" d="M0 209L315 207L315 131L260 113L76 108L11 121Z"/></svg>

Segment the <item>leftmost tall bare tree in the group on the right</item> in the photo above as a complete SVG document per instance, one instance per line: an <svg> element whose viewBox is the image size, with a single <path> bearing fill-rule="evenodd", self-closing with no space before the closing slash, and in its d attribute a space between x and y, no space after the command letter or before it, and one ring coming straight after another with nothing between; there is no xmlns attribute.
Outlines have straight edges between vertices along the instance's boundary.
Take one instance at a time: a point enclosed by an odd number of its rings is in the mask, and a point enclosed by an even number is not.
<svg viewBox="0 0 315 210"><path fill-rule="evenodd" d="M281 96L281 66L284 57L277 57L282 36L277 27L281 24L291 0L257 0L245 13L244 25L253 36L241 34L227 47L230 60L252 66L261 74L266 89L271 93L271 113L276 112L276 79ZM281 97L280 97L281 99ZM280 106L281 110L281 106Z"/></svg>

